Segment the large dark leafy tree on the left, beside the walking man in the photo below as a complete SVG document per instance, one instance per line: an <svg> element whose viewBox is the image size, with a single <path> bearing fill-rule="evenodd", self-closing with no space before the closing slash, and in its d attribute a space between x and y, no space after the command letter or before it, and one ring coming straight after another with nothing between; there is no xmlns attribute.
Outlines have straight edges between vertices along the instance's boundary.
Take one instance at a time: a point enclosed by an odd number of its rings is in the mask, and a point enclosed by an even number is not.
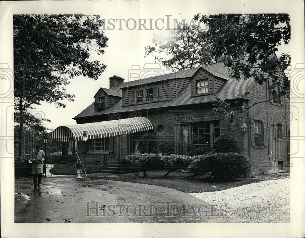
<svg viewBox="0 0 305 238"><path fill-rule="evenodd" d="M83 75L96 80L106 69L99 60L89 61L91 51L105 53L108 38L101 31L103 24L98 15L13 16L14 120L20 123L20 138L23 124L44 130L42 122L50 121L29 113L33 105L45 101L65 107L61 100L74 101L63 88L69 79Z"/></svg>

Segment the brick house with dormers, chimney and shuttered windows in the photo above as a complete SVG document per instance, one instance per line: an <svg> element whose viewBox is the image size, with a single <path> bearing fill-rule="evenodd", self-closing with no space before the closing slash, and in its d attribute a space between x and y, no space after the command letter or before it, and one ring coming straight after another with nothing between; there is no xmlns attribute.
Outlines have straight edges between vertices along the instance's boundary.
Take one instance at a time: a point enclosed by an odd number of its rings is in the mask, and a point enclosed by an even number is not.
<svg viewBox="0 0 305 238"><path fill-rule="evenodd" d="M253 79L231 79L221 63L131 82L114 75L109 78L109 89L99 88L94 101L74 119L82 124L142 116L152 123L153 129L148 132L158 139L185 141L196 147L213 146L219 135L229 134L250 159L253 174L286 172L290 147L289 98L276 97L279 84L277 92L270 95L269 83L258 85ZM229 102L232 110L265 102L249 108L247 116L252 123L246 123L248 129L244 133L241 126L245 122L232 126L223 115L213 112L209 101L214 94ZM242 95L239 103L235 102L236 95ZM274 99L268 101L271 98ZM122 156L137 150L144 133L122 137ZM91 139L86 143L86 158L97 156L102 161L118 147L118 138ZM77 147L80 154L84 153L84 143L78 141Z"/></svg>

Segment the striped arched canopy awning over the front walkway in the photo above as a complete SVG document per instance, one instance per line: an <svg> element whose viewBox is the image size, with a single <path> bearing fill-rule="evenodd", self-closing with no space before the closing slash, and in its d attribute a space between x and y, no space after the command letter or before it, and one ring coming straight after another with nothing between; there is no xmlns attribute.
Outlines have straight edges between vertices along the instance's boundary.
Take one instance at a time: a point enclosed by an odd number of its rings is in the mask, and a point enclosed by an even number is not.
<svg viewBox="0 0 305 238"><path fill-rule="evenodd" d="M88 139L125 135L150 130L152 123L145 117L59 126L51 133L52 142L81 141L84 131Z"/></svg>

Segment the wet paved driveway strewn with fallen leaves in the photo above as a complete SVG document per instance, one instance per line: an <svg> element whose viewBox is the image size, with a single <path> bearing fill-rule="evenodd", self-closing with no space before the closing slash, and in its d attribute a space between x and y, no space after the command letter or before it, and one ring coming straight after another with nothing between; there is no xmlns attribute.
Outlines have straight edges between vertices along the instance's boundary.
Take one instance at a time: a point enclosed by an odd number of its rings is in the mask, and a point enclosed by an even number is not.
<svg viewBox="0 0 305 238"><path fill-rule="evenodd" d="M31 183L15 180L15 222L238 222L221 207L160 186L57 177L34 190Z"/></svg>

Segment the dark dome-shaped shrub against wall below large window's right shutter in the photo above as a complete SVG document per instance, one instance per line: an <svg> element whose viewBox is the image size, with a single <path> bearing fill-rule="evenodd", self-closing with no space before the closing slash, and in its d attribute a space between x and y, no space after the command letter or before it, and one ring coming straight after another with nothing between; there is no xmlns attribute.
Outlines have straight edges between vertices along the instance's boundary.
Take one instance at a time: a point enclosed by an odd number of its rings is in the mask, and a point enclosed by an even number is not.
<svg viewBox="0 0 305 238"><path fill-rule="evenodd" d="M239 147L237 141L229 136L228 134L224 134L219 136L213 144L213 152L223 152L223 153L239 153Z"/></svg>

